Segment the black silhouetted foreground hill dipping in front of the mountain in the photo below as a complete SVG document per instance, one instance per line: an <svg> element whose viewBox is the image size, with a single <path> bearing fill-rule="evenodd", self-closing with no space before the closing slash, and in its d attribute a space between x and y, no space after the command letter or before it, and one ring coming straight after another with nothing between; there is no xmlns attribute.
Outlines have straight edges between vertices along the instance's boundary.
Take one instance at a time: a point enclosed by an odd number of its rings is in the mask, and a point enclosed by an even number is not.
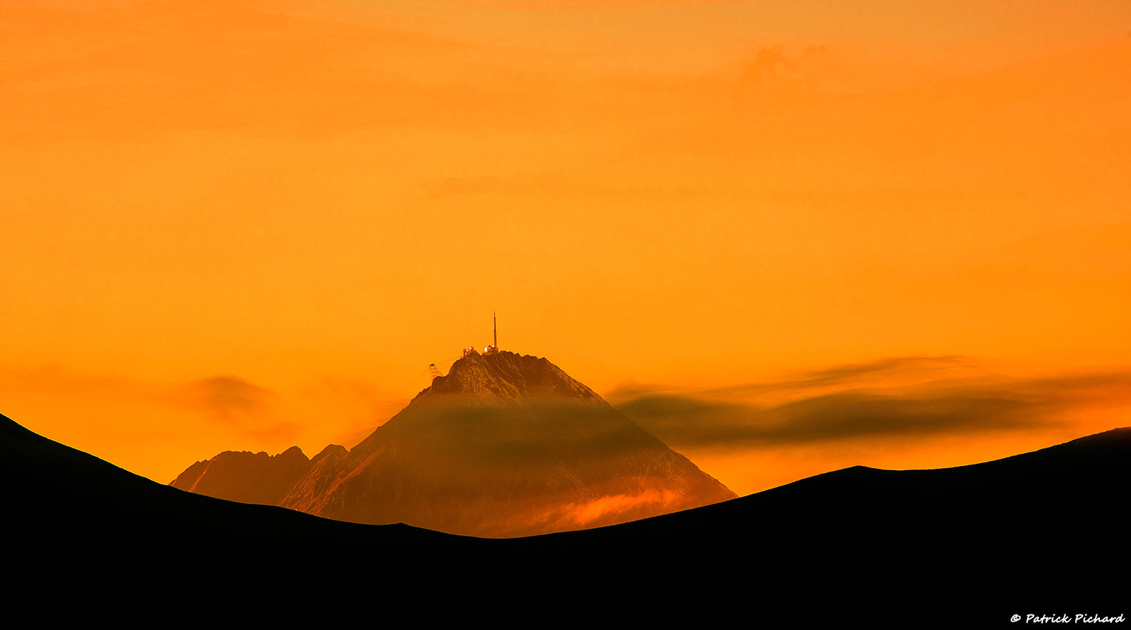
<svg viewBox="0 0 1131 630"><path fill-rule="evenodd" d="M0 416L0 597L27 623L149 625L1126 616L1129 481L1131 429L1119 429L976 466L848 468L637 523L484 540L182 492Z"/></svg>

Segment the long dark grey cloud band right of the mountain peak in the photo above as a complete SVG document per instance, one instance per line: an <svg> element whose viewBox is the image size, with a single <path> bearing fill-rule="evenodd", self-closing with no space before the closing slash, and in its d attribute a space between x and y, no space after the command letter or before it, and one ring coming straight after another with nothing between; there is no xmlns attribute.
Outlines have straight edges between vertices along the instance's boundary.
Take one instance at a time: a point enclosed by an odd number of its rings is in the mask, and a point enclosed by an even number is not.
<svg viewBox="0 0 1131 630"><path fill-rule="evenodd" d="M748 448L1056 426L1074 411L1131 404L1131 371L1007 379L957 356L897 357L700 392L632 386L614 396L676 450Z"/></svg>

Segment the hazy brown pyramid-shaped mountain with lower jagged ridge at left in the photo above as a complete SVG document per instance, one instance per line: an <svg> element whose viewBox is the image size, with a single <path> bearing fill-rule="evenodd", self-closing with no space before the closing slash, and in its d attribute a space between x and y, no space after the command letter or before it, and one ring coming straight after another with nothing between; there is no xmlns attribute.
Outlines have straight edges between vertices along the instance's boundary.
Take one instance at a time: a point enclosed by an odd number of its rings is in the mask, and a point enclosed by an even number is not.
<svg viewBox="0 0 1131 630"><path fill-rule="evenodd" d="M553 363L469 352L354 447L224 452L172 485L474 536L599 527L735 494Z"/></svg>

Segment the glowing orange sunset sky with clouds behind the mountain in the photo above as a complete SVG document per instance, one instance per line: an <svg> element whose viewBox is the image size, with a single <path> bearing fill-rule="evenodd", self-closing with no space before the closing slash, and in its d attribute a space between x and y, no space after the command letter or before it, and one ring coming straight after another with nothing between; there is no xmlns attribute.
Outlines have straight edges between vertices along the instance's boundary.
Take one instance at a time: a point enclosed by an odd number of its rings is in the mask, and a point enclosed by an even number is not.
<svg viewBox="0 0 1131 630"><path fill-rule="evenodd" d="M468 345L740 494L1131 425L1131 3L0 0L0 413L156 481Z"/></svg>

